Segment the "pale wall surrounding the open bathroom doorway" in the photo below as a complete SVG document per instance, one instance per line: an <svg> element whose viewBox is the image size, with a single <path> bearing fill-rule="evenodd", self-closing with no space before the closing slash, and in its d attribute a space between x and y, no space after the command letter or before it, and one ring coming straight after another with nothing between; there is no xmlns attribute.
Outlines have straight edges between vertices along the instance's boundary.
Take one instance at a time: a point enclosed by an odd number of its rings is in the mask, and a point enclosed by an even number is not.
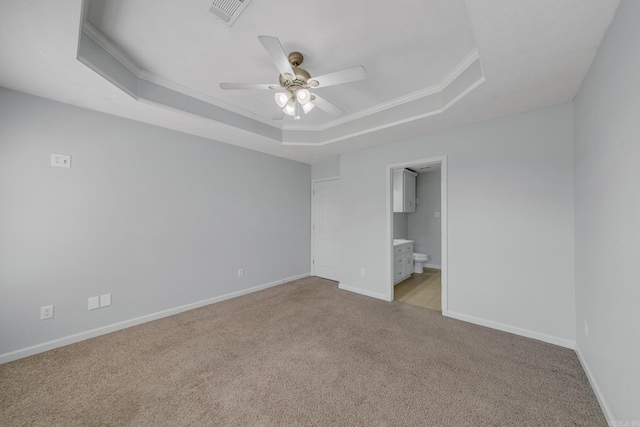
<svg viewBox="0 0 640 427"><path fill-rule="evenodd" d="M449 315L572 347L572 113L561 105L344 154L340 286L390 297L387 165L446 155Z"/></svg>

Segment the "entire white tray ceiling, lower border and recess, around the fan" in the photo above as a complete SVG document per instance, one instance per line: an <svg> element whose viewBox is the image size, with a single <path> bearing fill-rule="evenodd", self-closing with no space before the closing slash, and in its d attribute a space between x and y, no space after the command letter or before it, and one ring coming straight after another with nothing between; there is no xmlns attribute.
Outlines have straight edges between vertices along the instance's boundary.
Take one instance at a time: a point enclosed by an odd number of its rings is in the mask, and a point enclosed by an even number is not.
<svg viewBox="0 0 640 427"><path fill-rule="evenodd" d="M619 2L253 0L227 27L204 10L205 0L93 0L84 17L80 0L3 0L0 86L313 164L570 102ZM223 107L231 119L136 100L99 75L109 77L104 68L78 61L85 19L94 39L138 77ZM298 122L272 121L271 91L221 90L221 82L277 82L259 35L302 52L312 76L363 65L366 80L317 89L345 116L336 121L314 109ZM481 78L459 78L447 89L456 99L442 101L446 90L438 90L474 59ZM305 145L287 145L296 141Z"/></svg>

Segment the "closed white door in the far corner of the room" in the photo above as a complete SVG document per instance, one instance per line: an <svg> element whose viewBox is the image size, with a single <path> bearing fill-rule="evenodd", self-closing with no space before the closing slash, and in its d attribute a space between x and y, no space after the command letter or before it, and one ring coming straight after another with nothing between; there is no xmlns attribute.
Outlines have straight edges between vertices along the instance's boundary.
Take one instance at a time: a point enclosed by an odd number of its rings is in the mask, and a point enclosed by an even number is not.
<svg viewBox="0 0 640 427"><path fill-rule="evenodd" d="M340 274L340 180L313 183L314 276L339 280Z"/></svg>

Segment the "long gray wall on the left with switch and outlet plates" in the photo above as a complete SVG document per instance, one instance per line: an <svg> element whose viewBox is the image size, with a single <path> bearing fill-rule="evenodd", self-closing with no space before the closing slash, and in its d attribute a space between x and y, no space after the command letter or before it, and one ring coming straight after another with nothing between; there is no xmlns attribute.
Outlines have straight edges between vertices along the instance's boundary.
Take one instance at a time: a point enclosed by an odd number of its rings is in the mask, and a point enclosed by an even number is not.
<svg viewBox="0 0 640 427"><path fill-rule="evenodd" d="M308 273L310 180L306 164L0 89L0 355Z"/></svg>

